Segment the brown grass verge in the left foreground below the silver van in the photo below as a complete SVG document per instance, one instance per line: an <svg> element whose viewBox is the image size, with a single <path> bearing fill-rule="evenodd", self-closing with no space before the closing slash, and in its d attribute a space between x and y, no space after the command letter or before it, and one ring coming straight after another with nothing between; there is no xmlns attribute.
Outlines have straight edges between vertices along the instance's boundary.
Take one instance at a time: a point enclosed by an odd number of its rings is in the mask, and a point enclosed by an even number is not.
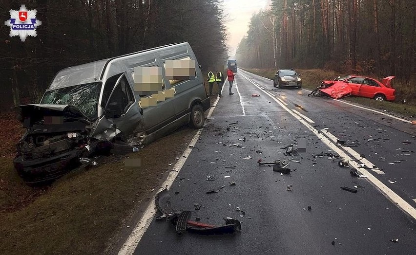
<svg viewBox="0 0 416 255"><path fill-rule="evenodd" d="M49 187L21 182L10 158L0 161L0 254L101 254L133 209L166 179L196 130L181 128L123 160L71 173ZM21 204L20 197L26 198ZM133 227L133 226L131 226Z"/></svg>

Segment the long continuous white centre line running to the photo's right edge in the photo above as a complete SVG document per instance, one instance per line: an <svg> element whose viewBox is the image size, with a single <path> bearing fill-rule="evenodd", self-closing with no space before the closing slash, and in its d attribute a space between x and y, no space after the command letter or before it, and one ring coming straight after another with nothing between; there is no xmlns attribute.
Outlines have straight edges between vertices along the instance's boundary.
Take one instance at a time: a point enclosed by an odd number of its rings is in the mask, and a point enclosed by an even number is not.
<svg viewBox="0 0 416 255"><path fill-rule="evenodd" d="M242 75L244 77L244 75ZM249 80L250 81L250 80ZM256 86L253 83L254 86ZM260 87L256 86L258 89ZM261 89L260 89L261 90ZM263 90L261 90L263 91ZM277 104L279 104L283 109L285 109L287 112L289 112L293 117L295 117L300 123L305 125L309 128L309 130L312 131L320 140L328 147L333 149L339 156L343 157L345 160L348 160L352 167L354 167L357 171L362 173L363 175L367 175L366 178L369 182L371 182L375 187L378 188L378 190L381 191L381 193L387 197L389 200L391 200L394 204L396 204L402 211L406 212L408 215L410 215L413 219L416 219L416 209L412 207L408 202L406 202L404 199L402 199L400 196L398 196L393 190L391 190L389 187L387 187L383 182L380 182L377 178L374 177L369 171L366 169L361 168L361 166L355 162L350 156L348 156L347 153L345 153L343 150L341 150L338 146L333 144L326 136L324 136L322 133L318 133L318 130L311 126L308 122L306 122L304 119L302 119L300 116L296 115L294 112L292 112L289 108L287 108L284 104L280 103L279 100L277 100L269 91L263 91L267 95L270 96Z"/></svg>

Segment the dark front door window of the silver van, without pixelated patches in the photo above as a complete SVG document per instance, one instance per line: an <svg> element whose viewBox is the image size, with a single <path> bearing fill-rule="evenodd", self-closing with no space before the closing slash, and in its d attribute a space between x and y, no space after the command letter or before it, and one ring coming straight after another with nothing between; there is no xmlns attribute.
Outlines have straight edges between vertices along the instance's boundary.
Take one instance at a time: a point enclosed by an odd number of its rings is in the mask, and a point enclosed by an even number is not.
<svg viewBox="0 0 416 255"><path fill-rule="evenodd" d="M105 87L104 87L105 91ZM103 96L104 98L104 96ZM133 92L130 89L127 78L123 75L120 82L116 85L113 94L108 100L107 109L115 110L124 114L127 108L134 102Z"/></svg>

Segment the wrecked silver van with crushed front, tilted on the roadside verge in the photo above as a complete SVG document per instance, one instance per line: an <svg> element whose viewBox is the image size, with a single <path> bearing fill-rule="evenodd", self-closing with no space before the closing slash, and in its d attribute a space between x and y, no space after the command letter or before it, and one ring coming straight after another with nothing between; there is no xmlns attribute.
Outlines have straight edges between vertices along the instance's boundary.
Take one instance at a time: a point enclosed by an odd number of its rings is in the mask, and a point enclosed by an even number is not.
<svg viewBox="0 0 416 255"><path fill-rule="evenodd" d="M27 130L14 165L25 182L54 180L103 143L151 143L189 123L201 128L210 102L188 43L65 68L40 104L18 106Z"/></svg>

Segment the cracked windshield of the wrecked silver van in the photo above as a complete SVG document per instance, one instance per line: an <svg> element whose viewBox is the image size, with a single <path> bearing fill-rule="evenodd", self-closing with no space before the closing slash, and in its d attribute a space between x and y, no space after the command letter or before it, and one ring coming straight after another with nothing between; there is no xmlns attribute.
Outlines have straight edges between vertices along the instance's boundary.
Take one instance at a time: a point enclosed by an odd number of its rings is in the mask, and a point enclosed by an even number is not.
<svg viewBox="0 0 416 255"><path fill-rule="evenodd" d="M100 96L101 85L101 82L93 82L46 91L43 95L41 104L72 105L80 109L88 118L93 120L98 116L98 99Z"/></svg>

